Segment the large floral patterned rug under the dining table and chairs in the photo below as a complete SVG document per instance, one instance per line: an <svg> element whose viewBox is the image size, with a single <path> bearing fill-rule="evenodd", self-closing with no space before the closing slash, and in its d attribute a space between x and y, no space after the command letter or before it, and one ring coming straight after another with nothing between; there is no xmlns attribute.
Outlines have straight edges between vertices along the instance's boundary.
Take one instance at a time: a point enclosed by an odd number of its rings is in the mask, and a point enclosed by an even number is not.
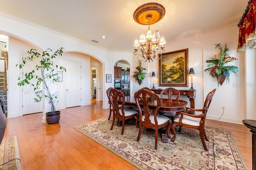
<svg viewBox="0 0 256 170"><path fill-rule="evenodd" d="M154 131L145 128L137 142L138 129L126 123L124 135L122 127L107 117L75 126L74 129L90 137L100 145L114 152L139 169L145 170L248 170L230 131L205 127L209 151L205 151L199 132L182 128L174 142L162 143L158 137L157 150L154 149ZM172 135L171 135L172 136Z"/></svg>

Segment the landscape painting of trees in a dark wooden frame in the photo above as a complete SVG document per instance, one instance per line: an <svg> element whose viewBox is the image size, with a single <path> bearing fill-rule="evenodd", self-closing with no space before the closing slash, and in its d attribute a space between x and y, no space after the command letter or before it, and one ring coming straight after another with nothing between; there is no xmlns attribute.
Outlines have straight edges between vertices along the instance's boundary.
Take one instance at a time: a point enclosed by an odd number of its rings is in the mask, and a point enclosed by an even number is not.
<svg viewBox="0 0 256 170"><path fill-rule="evenodd" d="M188 49L163 53L159 74L159 86L188 87Z"/></svg>

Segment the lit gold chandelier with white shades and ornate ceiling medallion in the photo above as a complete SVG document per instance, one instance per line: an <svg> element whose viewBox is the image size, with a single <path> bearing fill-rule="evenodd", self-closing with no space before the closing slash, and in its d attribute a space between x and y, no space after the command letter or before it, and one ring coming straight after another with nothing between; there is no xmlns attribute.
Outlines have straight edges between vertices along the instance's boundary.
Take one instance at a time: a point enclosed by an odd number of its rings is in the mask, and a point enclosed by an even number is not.
<svg viewBox="0 0 256 170"><path fill-rule="evenodd" d="M150 23L154 24L160 21L164 17L164 14L164 6L154 2L144 4L135 10L133 14L134 20L139 24L148 25L147 34L144 35L141 33L140 39L136 38L134 40L134 55L138 55L138 60L145 62L147 60L148 62L150 62L150 60L159 60L162 57L162 53L165 52L164 44L166 41L164 40L164 37L160 36L159 31L152 34L149 27ZM138 46L140 46L141 54L139 54L137 49Z"/></svg>

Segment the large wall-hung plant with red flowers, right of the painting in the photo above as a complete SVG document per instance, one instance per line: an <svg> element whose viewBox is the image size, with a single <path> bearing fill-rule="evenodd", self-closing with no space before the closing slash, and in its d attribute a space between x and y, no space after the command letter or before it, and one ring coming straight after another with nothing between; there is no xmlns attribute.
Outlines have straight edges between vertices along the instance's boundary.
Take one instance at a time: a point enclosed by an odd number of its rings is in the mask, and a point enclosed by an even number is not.
<svg viewBox="0 0 256 170"><path fill-rule="evenodd" d="M229 48L227 44L224 45L215 44L215 48L219 49L219 53L214 55L213 58L210 58L210 60L206 60L207 67L204 71L209 71L210 76L216 77L218 81L218 85L220 85L220 78L222 75L226 77L226 82L229 83L230 81L230 73L238 73L238 67L237 66L230 66L228 65L229 62L238 60L235 57L230 57L230 53L228 53Z"/></svg>

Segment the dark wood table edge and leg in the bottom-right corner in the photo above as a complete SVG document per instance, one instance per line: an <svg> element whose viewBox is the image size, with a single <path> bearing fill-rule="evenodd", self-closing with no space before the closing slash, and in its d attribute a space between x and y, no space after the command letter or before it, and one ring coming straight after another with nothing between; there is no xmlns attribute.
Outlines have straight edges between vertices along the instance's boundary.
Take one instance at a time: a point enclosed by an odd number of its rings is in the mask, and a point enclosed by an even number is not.
<svg viewBox="0 0 256 170"><path fill-rule="evenodd" d="M243 120L243 123L252 132L252 170L256 170L256 120Z"/></svg>

